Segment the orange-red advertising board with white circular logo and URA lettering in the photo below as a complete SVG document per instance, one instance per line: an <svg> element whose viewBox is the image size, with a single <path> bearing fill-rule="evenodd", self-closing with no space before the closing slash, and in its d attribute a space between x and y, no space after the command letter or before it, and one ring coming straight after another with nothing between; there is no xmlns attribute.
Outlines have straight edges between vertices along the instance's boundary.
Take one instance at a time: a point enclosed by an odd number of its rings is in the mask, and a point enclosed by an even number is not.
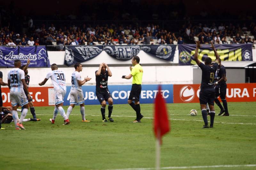
<svg viewBox="0 0 256 170"><path fill-rule="evenodd" d="M199 85L173 85L173 102L199 103ZM256 101L256 83L227 84L226 99L228 102Z"/></svg>

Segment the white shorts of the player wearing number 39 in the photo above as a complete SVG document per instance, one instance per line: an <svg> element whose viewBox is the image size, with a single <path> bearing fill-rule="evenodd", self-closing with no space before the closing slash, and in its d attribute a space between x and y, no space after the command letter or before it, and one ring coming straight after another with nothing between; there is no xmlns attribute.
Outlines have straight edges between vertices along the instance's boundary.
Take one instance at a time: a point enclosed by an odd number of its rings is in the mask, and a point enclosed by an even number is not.
<svg viewBox="0 0 256 170"><path fill-rule="evenodd" d="M20 92L10 91L10 100L12 106L16 106L19 104L22 107L25 104L28 104L28 99L23 89L21 89Z"/></svg>

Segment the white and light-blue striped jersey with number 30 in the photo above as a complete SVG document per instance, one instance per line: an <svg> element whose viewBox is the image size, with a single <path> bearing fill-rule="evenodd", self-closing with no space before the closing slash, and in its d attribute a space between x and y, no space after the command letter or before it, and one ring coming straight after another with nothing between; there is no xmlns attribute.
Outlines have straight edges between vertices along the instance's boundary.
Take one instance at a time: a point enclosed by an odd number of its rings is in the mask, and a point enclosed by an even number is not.
<svg viewBox="0 0 256 170"><path fill-rule="evenodd" d="M64 91L67 91L65 74L63 73L63 71L52 70L46 75L45 78L51 78L54 90L62 89Z"/></svg>

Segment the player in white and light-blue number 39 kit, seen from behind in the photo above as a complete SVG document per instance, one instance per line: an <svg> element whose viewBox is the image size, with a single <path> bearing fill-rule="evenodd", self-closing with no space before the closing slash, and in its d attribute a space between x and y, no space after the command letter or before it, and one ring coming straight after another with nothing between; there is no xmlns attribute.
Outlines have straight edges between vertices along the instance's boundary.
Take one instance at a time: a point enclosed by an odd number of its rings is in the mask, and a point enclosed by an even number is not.
<svg viewBox="0 0 256 170"><path fill-rule="evenodd" d="M20 60L14 61L14 68L8 73L8 86L10 88L10 99L12 104L12 118L16 125L16 129L25 129L22 125L23 119L28 113L28 100L30 95L28 92L28 87L25 82L25 73L20 69ZM27 96L24 92L27 93ZM20 115L20 120L17 113L17 108L21 106L23 110Z"/></svg>

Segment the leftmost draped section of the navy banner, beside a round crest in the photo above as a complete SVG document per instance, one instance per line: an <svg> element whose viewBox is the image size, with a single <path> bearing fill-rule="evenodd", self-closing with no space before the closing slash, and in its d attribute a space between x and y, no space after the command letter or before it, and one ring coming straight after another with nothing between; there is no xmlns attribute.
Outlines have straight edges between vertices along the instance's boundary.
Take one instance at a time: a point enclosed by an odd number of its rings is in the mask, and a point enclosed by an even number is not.
<svg viewBox="0 0 256 170"><path fill-rule="evenodd" d="M102 46L66 46L65 64L70 66L75 63L82 63L99 55Z"/></svg>

